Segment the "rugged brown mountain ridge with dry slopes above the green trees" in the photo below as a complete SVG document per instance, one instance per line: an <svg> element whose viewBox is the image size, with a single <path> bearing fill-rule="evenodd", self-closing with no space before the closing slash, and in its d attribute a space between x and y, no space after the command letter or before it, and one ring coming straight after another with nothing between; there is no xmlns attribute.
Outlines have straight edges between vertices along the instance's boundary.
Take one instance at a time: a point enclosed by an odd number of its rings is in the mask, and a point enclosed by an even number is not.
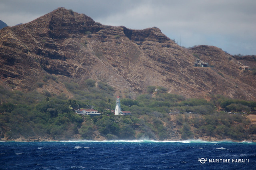
<svg viewBox="0 0 256 170"><path fill-rule="evenodd" d="M159 28L132 30L105 26L58 8L32 22L0 30L0 85L51 94L72 94L65 81L103 81L116 95L136 97L148 86L185 97L225 95L256 101L256 75L250 62L218 47L180 47ZM195 62L209 67L195 67ZM44 77L54 76L43 83ZM38 86L38 83L42 85Z"/></svg>

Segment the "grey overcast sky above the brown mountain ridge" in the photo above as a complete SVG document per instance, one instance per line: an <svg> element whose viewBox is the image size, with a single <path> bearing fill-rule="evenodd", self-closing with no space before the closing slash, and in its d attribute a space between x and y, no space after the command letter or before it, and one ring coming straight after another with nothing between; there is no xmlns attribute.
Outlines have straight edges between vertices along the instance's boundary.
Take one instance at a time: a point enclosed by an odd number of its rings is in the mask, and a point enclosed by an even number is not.
<svg viewBox="0 0 256 170"><path fill-rule="evenodd" d="M0 20L15 26L58 7L105 25L157 26L184 47L214 45L232 55L256 55L256 0L0 0Z"/></svg>

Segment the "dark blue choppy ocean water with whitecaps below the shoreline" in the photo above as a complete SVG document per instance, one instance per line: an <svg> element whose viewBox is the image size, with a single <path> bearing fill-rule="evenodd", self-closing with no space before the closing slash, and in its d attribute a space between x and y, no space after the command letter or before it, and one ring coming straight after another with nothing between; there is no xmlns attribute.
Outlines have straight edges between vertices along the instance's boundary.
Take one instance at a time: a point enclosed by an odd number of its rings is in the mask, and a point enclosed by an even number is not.
<svg viewBox="0 0 256 170"><path fill-rule="evenodd" d="M256 143L252 142L0 142L0 169L185 170L255 167Z"/></svg>

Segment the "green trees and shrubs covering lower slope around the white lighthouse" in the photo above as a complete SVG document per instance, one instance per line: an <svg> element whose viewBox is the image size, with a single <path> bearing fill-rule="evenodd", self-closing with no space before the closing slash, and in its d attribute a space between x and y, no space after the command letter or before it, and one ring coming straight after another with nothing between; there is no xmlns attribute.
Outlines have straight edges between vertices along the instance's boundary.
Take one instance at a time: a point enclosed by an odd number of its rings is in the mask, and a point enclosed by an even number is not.
<svg viewBox="0 0 256 170"><path fill-rule="evenodd" d="M42 87L49 79L35 85ZM58 80L60 81L60 80ZM80 136L97 140L151 138L155 140L216 137L250 140L256 134L244 113L255 113L256 102L212 96L186 99L166 93L164 87L149 86L136 100L121 96L123 111L130 116L114 116L114 88L104 82L86 79L83 82L63 82L74 98L65 94L52 96L48 91L9 91L0 87L0 133L7 139L38 136L52 139L72 139ZM157 89L157 90L156 90ZM75 109L96 109L100 116L77 115ZM216 111L217 108L222 111ZM236 114L228 114L228 112ZM241 114L242 113L242 114Z"/></svg>

